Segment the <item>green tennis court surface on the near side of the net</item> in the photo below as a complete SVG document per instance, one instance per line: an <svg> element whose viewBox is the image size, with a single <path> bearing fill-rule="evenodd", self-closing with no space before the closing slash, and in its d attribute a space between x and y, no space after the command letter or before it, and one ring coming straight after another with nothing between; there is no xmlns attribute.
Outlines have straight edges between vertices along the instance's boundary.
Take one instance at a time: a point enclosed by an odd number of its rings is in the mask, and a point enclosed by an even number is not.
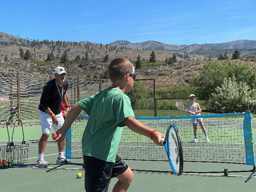
<svg viewBox="0 0 256 192"><path fill-rule="evenodd" d="M27 191L27 192L65 192L84 191L84 180L76 178L78 172L84 174L82 166L63 165L58 169L46 173L50 167L57 166L57 145L49 139L45 160L49 168L35 167L38 155L38 141L41 137L41 126L23 127L25 140L29 143L28 162L24 165L14 165L0 168L1 187L0 191ZM253 130L255 132L256 129ZM9 128L11 135L12 128ZM15 127L14 143L22 140L20 127ZM8 140L6 128L0 128L0 144L6 145ZM82 163L82 159L72 159L75 163ZM134 179L128 191L131 192L156 192L156 191L256 191L256 177L252 177L247 183L244 181L251 172L253 166L234 163L206 163L206 162L184 162L184 170L181 176L175 176L170 172L169 162L166 161L125 161L133 170ZM223 169L228 169L228 176L224 176ZM109 185L112 191L117 179L113 178Z"/></svg>

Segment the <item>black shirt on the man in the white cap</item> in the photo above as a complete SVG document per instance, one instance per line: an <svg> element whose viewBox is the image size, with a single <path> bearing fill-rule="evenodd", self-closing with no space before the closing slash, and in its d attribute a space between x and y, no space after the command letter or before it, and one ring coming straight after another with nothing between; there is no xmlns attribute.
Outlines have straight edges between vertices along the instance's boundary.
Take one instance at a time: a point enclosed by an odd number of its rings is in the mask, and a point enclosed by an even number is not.
<svg viewBox="0 0 256 192"><path fill-rule="evenodd" d="M64 97L68 89L68 82L65 80L63 86L60 87L59 85L56 86L55 80L54 78L45 84L38 109L45 112L46 109L50 108L57 115L61 113L62 89L62 97Z"/></svg>

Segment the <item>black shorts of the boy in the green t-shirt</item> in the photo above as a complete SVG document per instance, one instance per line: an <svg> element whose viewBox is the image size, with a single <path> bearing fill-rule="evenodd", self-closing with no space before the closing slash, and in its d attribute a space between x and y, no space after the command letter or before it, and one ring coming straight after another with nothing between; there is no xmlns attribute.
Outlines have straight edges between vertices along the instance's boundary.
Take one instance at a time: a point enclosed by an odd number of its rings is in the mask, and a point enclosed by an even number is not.
<svg viewBox="0 0 256 192"><path fill-rule="evenodd" d="M111 178L128 169L128 165L116 155L116 162L107 162L90 156L83 156L84 188L86 192L108 191Z"/></svg>

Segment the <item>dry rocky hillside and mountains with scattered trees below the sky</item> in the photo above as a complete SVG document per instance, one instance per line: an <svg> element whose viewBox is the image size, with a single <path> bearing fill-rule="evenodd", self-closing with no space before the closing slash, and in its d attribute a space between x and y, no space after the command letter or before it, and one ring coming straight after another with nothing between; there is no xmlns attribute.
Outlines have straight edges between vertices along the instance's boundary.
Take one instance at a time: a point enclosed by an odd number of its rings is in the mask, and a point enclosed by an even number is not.
<svg viewBox="0 0 256 192"><path fill-rule="evenodd" d="M245 46L246 43L247 41L244 41L243 45ZM249 43L253 44L253 41L249 41ZM136 60L138 55L144 60L149 60L150 54L154 49L157 62L162 64L143 66L140 69L136 69L138 79L155 78L157 88L188 86L191 77L199 72L206 59L204 55L195 54L195 52L200 50L200 52L210 53L212 50L215 50L216 54L222 50L214 47L211 48L208 45L210 44L178 46L156 41L136 44L128 41L115 41L107 45L91 42L53 42L49 40L39 41L20 38L0 32L0 67L1 71L53 74L53 69L61 65L68 68L69 76L79 75L87 78L99 78L105 73L111 60L117 57ZM24 52L30 50L31 59L21 59L20 49L23 49ZM232 53L233 50L229 50ZM51 52L54 54L55 59L53 61L46 61L48 54ZM88 52L89 56L88 61L83 60L86 52ZM188 52L191 52L191 54L188 54ZM61 63L60 58L63 53L67 53L68 63ZM173 53L177 54L177 62L172 65L165 64L165 59L172 57ZM108 62L104 61L106 54L109 56ZM78 56L80 60L76 61L75 58ZM184 59L184 56L187 58ZM42 61L42 63L38 63L39 61ZM240 59L240 61L246 62L250 66L256 66L256 56L248 56Z"/></svg>

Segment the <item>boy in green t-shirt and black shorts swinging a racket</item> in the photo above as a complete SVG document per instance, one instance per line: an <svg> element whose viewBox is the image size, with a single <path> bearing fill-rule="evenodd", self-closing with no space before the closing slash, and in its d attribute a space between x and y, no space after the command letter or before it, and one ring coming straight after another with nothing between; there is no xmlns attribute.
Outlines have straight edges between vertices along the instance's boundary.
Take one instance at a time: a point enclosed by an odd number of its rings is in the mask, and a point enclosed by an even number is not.
<svg viewBox="0 0 256 192"><path fill-rule="evenodd" d="M53 142L65 136L75 118L82 110L89 120L82 137L84 158L84 184L87 192L108 191L111 178L118 181L113 191L127 191L133 172L117 155L123 127L152 138L162 146L163 133L150 129L135 119L131 101L125 92L132 89L136 74L130 61L114 59L109 65L112 86L76 103L67 115L63 126L52 133Z"/></svg>

